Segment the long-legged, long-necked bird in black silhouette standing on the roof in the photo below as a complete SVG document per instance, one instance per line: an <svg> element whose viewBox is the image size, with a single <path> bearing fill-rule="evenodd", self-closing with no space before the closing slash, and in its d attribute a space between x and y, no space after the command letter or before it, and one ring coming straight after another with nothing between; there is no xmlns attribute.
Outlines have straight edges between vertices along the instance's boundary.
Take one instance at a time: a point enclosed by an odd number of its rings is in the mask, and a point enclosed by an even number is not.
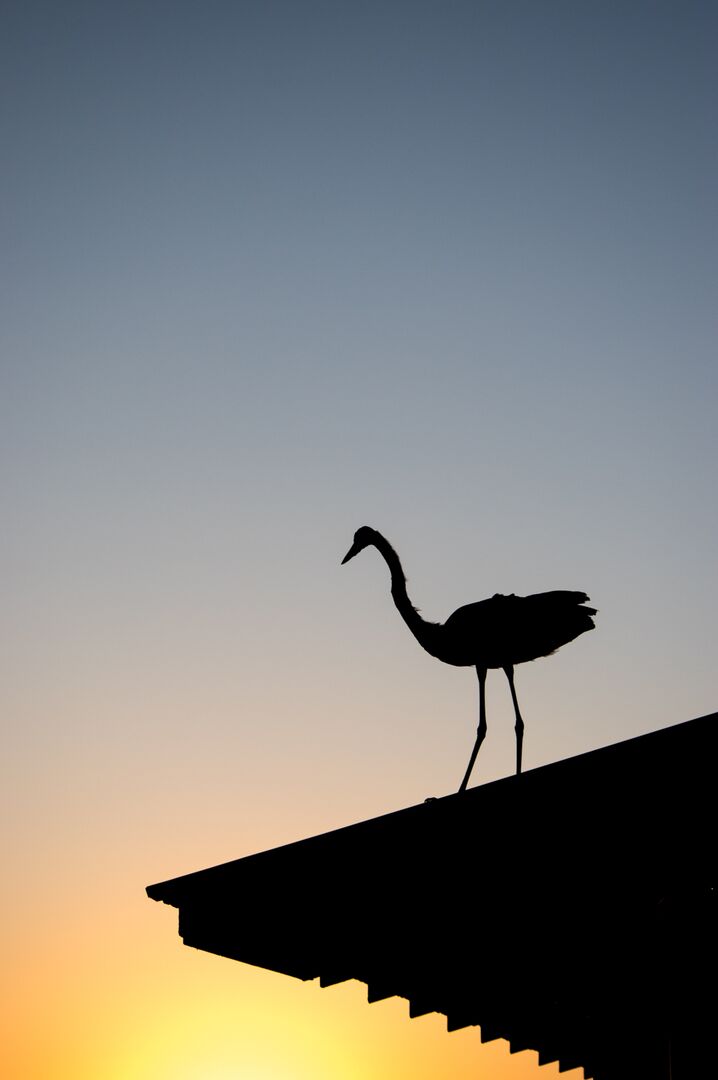
<svg viewBox="0 0 718 1080"><path fill-rule="evenodd" d="M596 608L584 607L585 593L557 590L531 596L502 596L500 593L476 604L457 608L446 622L426 622L406 592L406 577L399 557L389 540L363 525L342 558L342 565L365 548L374 546L383 556L391 573L391 592L398 613L422 649L445 664L475 667L478 675L478 728L476 742L459 792L469 783L476 756L486 735L486 675L489 667L502 667L516 716L516 773L521 771L524 720L514 686L514 664L547 657L561 645L594 629Z"/></svg>

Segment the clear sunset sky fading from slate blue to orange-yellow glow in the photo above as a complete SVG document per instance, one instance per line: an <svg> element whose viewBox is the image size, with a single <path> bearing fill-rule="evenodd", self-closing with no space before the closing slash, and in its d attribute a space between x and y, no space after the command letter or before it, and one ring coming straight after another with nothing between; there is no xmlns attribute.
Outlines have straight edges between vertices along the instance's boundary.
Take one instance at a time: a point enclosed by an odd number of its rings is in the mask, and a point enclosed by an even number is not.
<svg viewBox="0 0 718 1080"><path fill-rule="evenodd" d="M430 619L588 593L517 670L526 768L718 707L717 29L3 4L8 1080L557 1076L186 949L144 889L458 787L475 675L340 566L361 525ZM472 783L513 769L487 701Z"/></svg>

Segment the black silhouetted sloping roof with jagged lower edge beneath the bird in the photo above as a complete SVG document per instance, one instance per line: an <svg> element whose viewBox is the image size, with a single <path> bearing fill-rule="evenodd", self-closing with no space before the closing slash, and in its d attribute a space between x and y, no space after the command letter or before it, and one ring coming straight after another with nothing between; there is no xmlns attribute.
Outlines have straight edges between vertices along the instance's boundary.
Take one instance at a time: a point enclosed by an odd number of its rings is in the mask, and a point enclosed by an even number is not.
<svg viewBox="0 0 718 1080"><path fill-rule="evenodd" d="M596 1080L707 1076L718 714L147 890L186 945L479 1025Z"/></svg>

